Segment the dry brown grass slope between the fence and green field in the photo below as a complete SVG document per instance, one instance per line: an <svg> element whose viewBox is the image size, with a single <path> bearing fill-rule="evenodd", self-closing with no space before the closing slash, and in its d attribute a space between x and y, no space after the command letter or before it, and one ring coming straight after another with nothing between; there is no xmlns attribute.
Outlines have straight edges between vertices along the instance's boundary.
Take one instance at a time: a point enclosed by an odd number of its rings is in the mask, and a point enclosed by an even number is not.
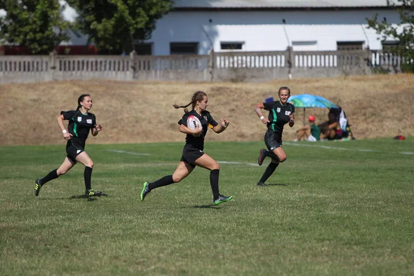
<svg viewBox="0 0 414 276"><path fill-rule="evenodd" d="M334 79L275 80L269 83L184 83L59 81L49 83L5 84L0 86L0 146L64 144L55 118L61 110L77 106L77 98L90 93L91 110L103 132L88 143L145 143L184 141L177 130L183 110L173 103L186 104L193 92L209 96L213 118L231 121L221 135L210 133L210 141L261 140L265 132L253 106L266 97L277 98L279 86L292 94L320 95L346 111L357 139L414 136L414 76L373 75ZM317 122L326 120L328 110L312 108ZM296 112L297 124L286 128L284 139L295 137L302 126L303 110Z"/></svg>

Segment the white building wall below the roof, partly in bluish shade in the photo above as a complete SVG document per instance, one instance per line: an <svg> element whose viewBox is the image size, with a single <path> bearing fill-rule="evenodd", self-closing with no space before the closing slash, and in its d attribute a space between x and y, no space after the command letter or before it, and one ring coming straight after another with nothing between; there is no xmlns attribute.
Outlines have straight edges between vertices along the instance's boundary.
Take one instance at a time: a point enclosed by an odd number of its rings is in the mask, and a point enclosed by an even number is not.
<svg viewBox="0 0 414 276"><path fill-rule="evenodd" d="M400 21L394 10L170 12L147 42L153 43L152 55L170 55L170 42L198 42L198 54L206 55L209 39L215 52L221 41L244 42L243 51L337 50L337 41L364 41L364 48L381 50L379 36L366 23L376 13L389 23Z"/></svg>

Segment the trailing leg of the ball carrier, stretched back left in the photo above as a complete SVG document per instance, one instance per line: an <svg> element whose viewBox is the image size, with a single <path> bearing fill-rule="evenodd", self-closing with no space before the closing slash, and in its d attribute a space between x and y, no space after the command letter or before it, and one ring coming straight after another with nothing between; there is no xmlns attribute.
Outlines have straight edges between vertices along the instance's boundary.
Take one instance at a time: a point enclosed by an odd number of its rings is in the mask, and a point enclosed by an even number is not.
<svg viewBox="0 0 414 276"><path fill-rule="evenodd" d="M146 195L148 195L151 190L177 183L190 175L193 170L194 166L186 163L185 161L180 161L177 168L175 169L175 172L172 175L166 175L165 177L162 177L154 182L145 182L141 190L141 200L144 200Z"/></svg>

